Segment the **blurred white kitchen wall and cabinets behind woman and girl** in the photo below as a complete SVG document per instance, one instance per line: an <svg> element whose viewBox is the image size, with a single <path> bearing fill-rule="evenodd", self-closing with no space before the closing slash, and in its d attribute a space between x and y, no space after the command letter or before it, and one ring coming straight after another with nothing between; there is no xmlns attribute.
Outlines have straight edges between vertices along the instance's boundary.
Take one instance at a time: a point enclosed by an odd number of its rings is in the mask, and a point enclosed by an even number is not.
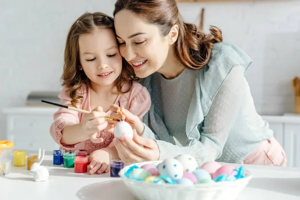
<svg viewBox="0 0 300 200"><path fill-rule="evenodd" d="M201 1L201 0L199 0ZM0 140L16 148L56 148L48 133L56 107L34 106L32 92L56 98L65 38L85 11L112 15L115 0L0 0ZM300 116L291 80L300 76L300 0L178 2L183 18L221 28L224 40L253 59L246 73L258 113L284 146L288 165L300 166ZM26 105L31 104L31 105Z"/></svg>

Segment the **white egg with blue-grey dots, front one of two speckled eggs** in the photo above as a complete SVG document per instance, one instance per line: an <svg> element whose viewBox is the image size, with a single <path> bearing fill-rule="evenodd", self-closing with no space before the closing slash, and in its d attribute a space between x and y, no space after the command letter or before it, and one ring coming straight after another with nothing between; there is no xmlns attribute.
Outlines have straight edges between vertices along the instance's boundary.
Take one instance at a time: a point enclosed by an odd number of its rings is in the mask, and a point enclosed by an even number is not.
<svg viewBox="0 0 300 200"><path fill-rule="evenodd" d="M165 175L176 180L182 177L183 166L178 160L167 158L159 164L158 171L160 175Z"/></svg>

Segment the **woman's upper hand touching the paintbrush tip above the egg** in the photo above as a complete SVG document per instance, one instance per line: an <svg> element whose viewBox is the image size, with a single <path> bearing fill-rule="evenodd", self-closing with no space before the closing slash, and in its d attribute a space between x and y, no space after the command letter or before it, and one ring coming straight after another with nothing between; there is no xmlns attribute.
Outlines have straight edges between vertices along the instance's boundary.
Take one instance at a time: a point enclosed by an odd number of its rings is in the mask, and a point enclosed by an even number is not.
<svg viewBox="0 0 300 200"><path fill-rule="evenodd" d="M120 114L119 114L119 112L121 111L122 112L122 120L125 120L126 122L128 122L131 125L132 129L136 130L137 134L141 135L143 133L144 125L140 121L138 116L132 114L130 111L126 110L124 107L117 106L116 104L110 105L109 109L112 111L110 114L111 117L121 119ZM116 122L112 122L112 123L116 123ZM109 126L113 127L113 124L110 123Z"/></svg>

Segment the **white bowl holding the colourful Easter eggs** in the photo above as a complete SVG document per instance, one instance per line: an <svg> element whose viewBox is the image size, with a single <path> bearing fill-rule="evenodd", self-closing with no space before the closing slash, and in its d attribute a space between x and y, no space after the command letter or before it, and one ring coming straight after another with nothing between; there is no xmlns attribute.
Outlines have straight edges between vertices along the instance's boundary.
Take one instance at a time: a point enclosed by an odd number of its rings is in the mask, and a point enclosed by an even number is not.
<svg viewBox="0 0 300 200"><path fill-rule="evenodd" d="M161 160L135 164L140 167L143 164L157 165L160 162ZM125 177L124 173L132 165L133 164L130 164L122 168L119 172L119 176L130 191L141 200L233 200L252 178L252 174L245 169L245 177L234 181L201 183L192 186L180 184L154 184L152 182L138 181Z"/></svg>

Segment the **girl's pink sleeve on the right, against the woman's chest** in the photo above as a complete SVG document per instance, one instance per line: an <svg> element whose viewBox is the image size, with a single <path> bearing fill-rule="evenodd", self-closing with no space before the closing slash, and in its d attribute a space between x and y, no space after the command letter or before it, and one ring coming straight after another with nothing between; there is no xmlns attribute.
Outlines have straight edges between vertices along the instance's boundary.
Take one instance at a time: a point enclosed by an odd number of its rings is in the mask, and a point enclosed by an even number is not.
<svg viewBox="0 0 300 200"><path fill-rule="evenodd" d="M142 120L143 115L150 109L151 98L146 87L140 85L139 88L135 96L131 99L129 111Z"/></svg>

